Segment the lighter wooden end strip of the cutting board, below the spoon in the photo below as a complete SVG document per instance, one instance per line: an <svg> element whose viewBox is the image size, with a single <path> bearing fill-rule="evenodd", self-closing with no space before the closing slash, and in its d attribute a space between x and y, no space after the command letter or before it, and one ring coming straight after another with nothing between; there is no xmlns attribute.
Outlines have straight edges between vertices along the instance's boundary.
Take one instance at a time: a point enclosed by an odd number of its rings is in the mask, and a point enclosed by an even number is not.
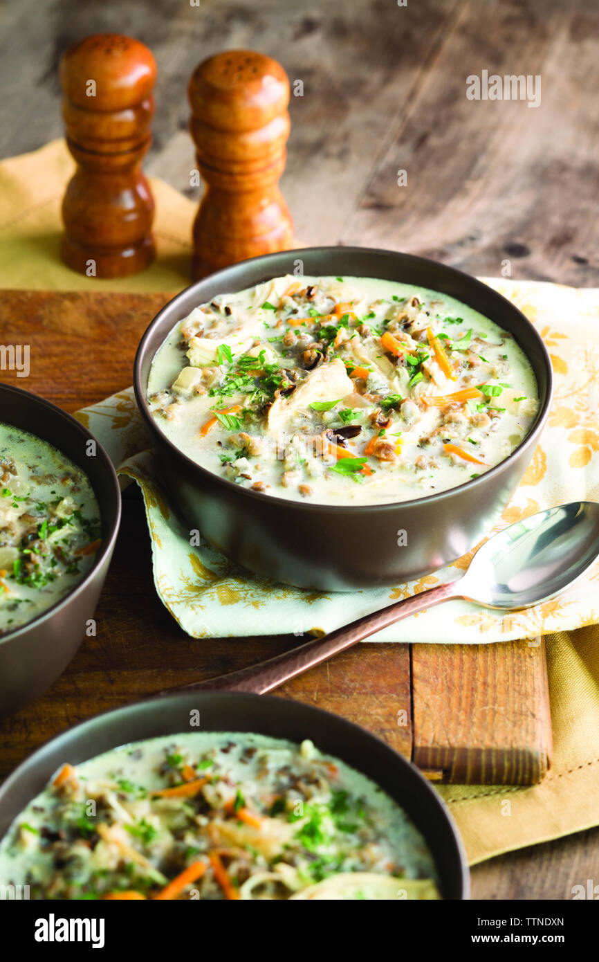
<svg viewBox="0 0 599 962"><path fill-rule="evenodd" d="M544 642L412 646L412 715L412 761L439 780L534 784L553 749Z"/></svg>

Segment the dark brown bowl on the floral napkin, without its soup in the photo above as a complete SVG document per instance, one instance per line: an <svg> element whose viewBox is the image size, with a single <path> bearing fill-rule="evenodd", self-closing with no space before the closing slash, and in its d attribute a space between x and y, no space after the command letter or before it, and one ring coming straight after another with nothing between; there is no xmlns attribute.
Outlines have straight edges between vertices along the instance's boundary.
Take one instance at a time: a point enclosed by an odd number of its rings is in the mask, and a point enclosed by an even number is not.
<svg viewBox="0 0 599 962"><path fill-rule="evenodd" d="M457 297L510 331L537 377L540 404L524 441L495 468L450 491L395 504L312 504L265 496L212 474L165 435L146 403L152 360L174 325L216 294L241 291L301 261L312 275L403 281ZM189 528L245 568L302 588L351 591L419 578L455 561L487 534L531 460L552 396L549 355L527 318L500 294L453 267L411 254L362 247L313 247L243 261L173 298L137 350L137 404L162 463L164 486ZM398 546L398 532L408 544ZM403 539L400 539L403 540Z"/></svg>

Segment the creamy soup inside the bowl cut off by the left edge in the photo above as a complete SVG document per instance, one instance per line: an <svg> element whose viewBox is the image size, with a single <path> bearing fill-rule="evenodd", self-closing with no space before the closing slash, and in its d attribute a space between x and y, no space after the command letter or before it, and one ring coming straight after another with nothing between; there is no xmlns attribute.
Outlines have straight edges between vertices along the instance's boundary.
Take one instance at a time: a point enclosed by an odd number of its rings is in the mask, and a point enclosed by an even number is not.
<svg viewBox="0 0 599 962"><path fill-rule="evenodd" d="M93 565L99 535L85 473L50 444L0 423L0 634L73 589Z"/></svg>

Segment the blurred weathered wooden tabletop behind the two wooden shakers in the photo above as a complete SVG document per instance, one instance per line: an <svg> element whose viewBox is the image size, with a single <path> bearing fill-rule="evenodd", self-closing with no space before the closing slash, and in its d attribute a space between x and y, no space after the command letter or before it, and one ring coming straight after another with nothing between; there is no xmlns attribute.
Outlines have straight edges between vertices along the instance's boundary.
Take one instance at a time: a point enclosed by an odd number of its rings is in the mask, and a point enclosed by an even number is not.
<svg viewBox="0 0 599 962"><path fill-rule="evenodd" d="M129 33L159 71L144 169L199 199L189 77L218 50L250 47L291 82L281 186L296 237L599 284L596 0L13 0L0 27L1 156L62 136L58 63L70 43ZM540 106L467 100L466 77L482 69L538 74Z"/></svg>

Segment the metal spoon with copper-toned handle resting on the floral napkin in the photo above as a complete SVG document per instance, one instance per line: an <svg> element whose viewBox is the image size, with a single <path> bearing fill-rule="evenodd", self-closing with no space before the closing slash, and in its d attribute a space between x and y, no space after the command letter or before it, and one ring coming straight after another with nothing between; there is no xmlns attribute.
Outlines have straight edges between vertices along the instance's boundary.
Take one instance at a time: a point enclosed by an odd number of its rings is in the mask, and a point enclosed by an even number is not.
<svg viewBox="0 0 599 962"><path fill-rule="evenodd" d="M483 544L456 581L402 598L259 665L232 671L186 690L255 692L263 695L326 661L376 631L449 598L487 608L520 611L569 588L599 557L599 504L573 501L516 521ZM181 691L181 689L178 689ZM166 694L165 692L162 694Z"/></svg>

